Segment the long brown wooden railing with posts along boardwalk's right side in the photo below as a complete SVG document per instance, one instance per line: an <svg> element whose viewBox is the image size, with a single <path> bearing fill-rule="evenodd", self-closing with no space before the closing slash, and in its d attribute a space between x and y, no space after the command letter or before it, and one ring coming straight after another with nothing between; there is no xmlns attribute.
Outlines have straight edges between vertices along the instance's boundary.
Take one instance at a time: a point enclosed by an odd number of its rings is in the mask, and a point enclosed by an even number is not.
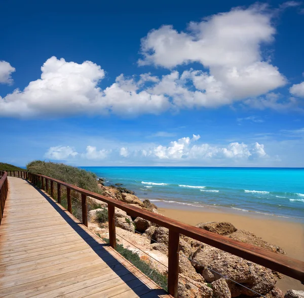
<svg viewBox="0 0 304 298"><path fill-rule="evenodd" d="M113 248L116 248L115 207L126 211L128 214L131 214L134 217L139 216L151 222L154 222L155 224L158 224L162 227L168 228L168 292L174 297L177 296L178 286L178 246L180 234L191 237L195 240L209 244L218 249L232 253L251 262L270 268L274 271L280 272L284 275L304 282L304 262L300 260L288 257L286 255L278 254L269 250L265 250L247 243L235 241L225 236L218 235L197 227L182 224L182 222L179 222L177 220L153 212L149 212L134 206L130 206L129 204L126 204L119 200L115 200L90 191L86 191L84 189L76 187L75 185L68 184L48 176L37 175L26 171L18 171L18 173L12 171L9 174L12 176L18 176L28 179L35 185L41 185L42 189L46 188L47 192L49 191L48 185L50 184L51 189L49 193L52 197L53 182L57 183L57 201L59 204L61 203L62 187L65 187L67 193L67 209L69 212L72 211L70 196L71 190L80 193L82 201L82 222L85 226L88 226L88 211L86 204L87 197L89 196L107 203L109 222L109 243L110 246L112 246ZM3 175L3 178L6 179L5 175L6 174Z"/></svg>

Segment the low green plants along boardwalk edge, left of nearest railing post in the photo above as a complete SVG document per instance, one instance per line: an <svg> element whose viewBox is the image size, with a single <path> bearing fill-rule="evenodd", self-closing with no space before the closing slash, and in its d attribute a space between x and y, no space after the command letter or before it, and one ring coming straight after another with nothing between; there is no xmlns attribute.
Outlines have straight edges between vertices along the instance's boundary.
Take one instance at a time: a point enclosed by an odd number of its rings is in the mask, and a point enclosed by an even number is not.
<svg viewBox="0 0 304 298"><path fill-rule="evenodd" d="M103 238L103 241L109 243L109 239ZM122 244L117 244L116 250L129 260L136 268L148 276L151 280L155 281L164 290L168 288L168 278L166 275L160 273L157 269L151 267L149 264L140 259L136 252L124 248Z"/></svg>

